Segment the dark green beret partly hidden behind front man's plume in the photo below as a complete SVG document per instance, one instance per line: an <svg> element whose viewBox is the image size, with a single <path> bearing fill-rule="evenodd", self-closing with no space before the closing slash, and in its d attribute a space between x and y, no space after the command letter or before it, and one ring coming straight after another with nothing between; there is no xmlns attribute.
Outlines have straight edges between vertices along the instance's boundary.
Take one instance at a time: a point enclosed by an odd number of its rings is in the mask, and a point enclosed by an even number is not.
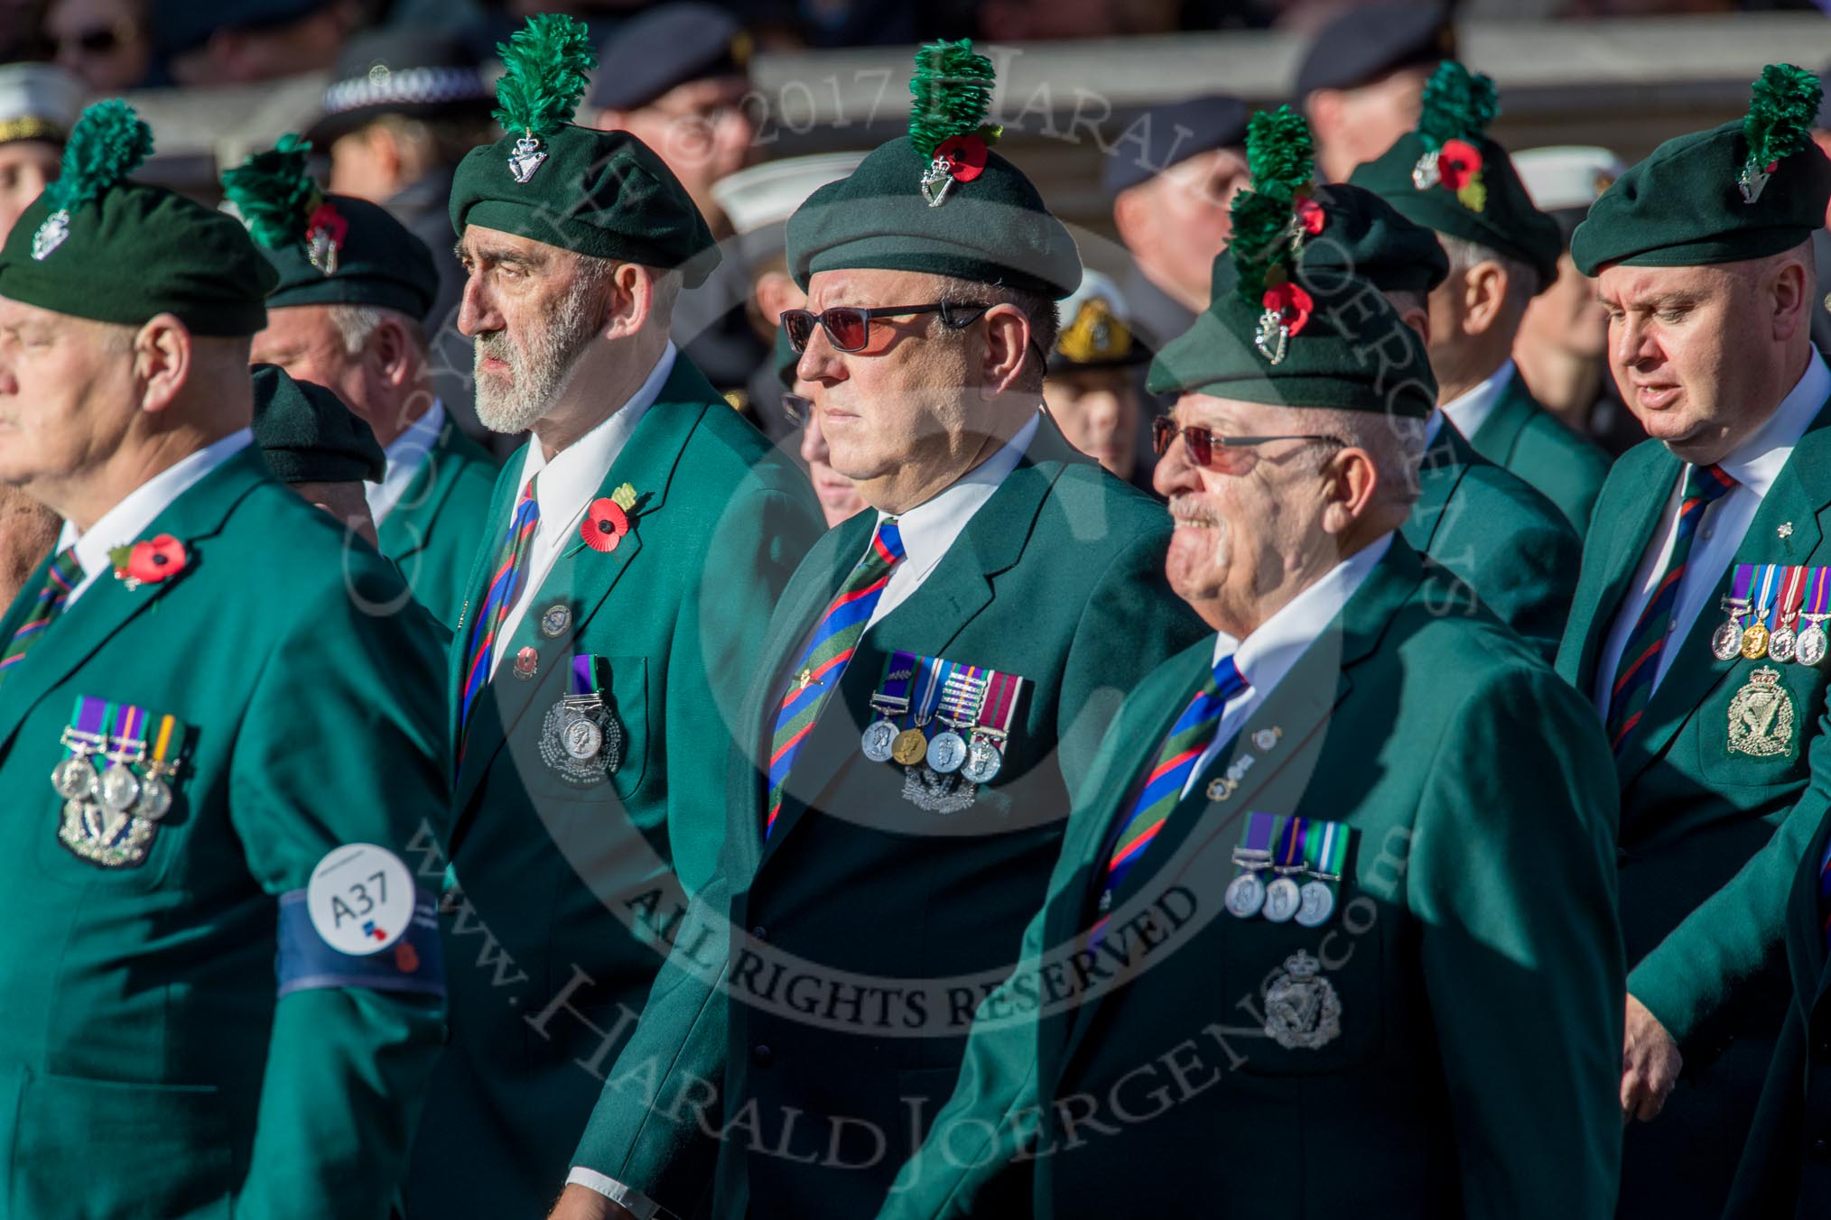
<svg viewBox="0 0 1831 1220"><path fill-rule="evenodd" d="M1415 225L1371 190L1348 183L1316 187L1322 230L1304 243L1296 278L1311 293L1353 273L1382 293L1428 293L1450 274L1437 234Z"/></svg>

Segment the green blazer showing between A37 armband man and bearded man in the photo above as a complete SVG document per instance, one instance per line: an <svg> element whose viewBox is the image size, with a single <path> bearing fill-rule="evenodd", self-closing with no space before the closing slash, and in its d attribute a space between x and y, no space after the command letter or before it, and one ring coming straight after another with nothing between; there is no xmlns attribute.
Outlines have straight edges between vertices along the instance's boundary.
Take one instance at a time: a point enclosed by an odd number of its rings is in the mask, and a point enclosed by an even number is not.
<svg viewBox="0 0 1831 1220"><path fill-rule="evenodd" d="M375 527L414 596L447 629L458 624L465 578L489 534L496 459L447 415L401 503Z"/></svg>

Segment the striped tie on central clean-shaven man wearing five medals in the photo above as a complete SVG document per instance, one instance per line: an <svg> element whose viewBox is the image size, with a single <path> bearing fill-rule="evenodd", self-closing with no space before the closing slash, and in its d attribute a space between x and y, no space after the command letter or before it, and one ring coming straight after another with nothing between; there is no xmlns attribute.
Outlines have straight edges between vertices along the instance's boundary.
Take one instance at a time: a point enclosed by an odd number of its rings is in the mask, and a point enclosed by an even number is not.
<svg viewBox="0 0 1831 1220"><path fill-rule="evenodd" d="M764 821L764 838L776 829L776 814L782 812L782 785L795 766L807 733L826 697L839 686L846 662L859 647L864 624L872 622L877 600L884 596L890 583L890 569L903 562L903 534L897 532L897 519L884 518L872 534L872 549L851 576L839 589L839 594L820 615L820 626L807 638L800 660L789 673L789 690L776 706L776 732L769 741L769 816Z"/></svg>

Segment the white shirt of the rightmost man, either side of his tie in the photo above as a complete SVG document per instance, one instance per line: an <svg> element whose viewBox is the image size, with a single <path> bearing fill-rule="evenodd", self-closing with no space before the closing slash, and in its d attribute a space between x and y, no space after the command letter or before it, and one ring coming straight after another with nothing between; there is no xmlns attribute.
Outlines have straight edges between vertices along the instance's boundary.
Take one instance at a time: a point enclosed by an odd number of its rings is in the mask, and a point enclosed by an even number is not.
<svg viewBox="0 0 1831 1220"><path fill-rule="evenodd" d="M1741 536L1749 532L1749 523L1754 521L1754 512L1761 507L1761 498L1767 496L1767 488L1774 485L1774 477L1787 465L1793 446L1800 443L1800 437L1811 428L1813 419L1818 417L1826 399L1831 399L1831 368L1826 368L1824 357L1815 351L1800 382L1780 401L1780 406L1774 408L1767 423L1717 463L1725 474L1736 479L1736 487L1723 492L1714 505L1705 507L1705 516L1697 521L1697 536L1692 538L1692 554L1685 563L1685 574L1679 576L1677 600L1672 604L1672 622L1666 629L1670 640L1686 638L1692 624L1697 622L1697 615L1717 613L1712 596L1723 580L1723 573L1728 571L1730 560L1736 558L1736 551L1741 547ZM1685 466L1685 470L1690 470L1690 466ZM1666 508L1659 518L1659 527L1653 530L1653 543L1641 556L1641 567L1633 573L1628 596L1622 598L1620 611L1615 615L1615 626L1609 627L1602 655L1597 657L1593 695L1597 712L1604 721L1608 721L1608 697L1609 688L1615 686L1615 669L1620 666L1620 653L1628 647L1628 637L1633 635L1633 624L1641 618L1641 611L1646 609L1653 585L1666 573L1666 558L1672 554L1672 543L1679 532L1679 494L1683 487L1685 474L1681 472L1666 494ZM1677 647L1659 651L1653 690L1659 690L1659 682L1664 680L1666 669L1672 668L1677 653Z"/></svg>

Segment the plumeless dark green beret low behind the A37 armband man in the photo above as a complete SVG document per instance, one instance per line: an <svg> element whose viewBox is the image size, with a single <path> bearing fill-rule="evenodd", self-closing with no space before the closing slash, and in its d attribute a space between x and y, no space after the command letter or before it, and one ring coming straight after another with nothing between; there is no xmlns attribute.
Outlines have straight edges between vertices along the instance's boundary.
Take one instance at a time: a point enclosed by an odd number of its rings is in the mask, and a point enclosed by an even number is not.
<svg viewBox="0 0 1831 1220"><path fill-rule="evenodd" d="M324 386L256 364L255 444L282 483L381 483L388 459L370 426Z"/></svg>

